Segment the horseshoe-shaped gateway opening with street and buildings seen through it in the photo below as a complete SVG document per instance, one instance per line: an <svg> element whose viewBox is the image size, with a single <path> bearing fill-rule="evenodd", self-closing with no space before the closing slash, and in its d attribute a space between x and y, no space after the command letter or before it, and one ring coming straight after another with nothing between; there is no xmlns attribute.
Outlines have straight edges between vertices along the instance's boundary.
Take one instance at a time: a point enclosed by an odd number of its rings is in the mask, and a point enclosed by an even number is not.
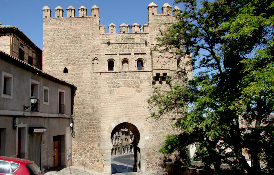
<svg viewBox="0 0 274 175"><path fill-rule="evenodd" d="M112 173L140 172L140 132L131 123L118 124L111 132Z"/></svg>

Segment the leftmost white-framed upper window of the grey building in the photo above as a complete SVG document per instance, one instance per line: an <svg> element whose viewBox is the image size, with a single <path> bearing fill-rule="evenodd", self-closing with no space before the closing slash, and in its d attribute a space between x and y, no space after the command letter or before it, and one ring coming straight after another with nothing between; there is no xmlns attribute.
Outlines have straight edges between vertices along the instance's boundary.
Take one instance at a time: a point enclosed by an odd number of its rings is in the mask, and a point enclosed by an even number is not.
<svg viewBox="0 0 274 175"><path fill-rule="evenodd" d="M2 71L2 97L13 98L13 75Z"/></svg>

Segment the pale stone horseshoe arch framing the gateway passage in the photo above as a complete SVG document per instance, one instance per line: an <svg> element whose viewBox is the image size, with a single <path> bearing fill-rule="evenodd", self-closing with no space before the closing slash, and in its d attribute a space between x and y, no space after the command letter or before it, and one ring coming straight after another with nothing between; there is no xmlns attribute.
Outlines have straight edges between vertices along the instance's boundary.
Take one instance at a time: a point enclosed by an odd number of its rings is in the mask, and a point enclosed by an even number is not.
<svg viewBox="0 0 274 175"><path fill-rule="evenodd" d="M106 139L105 141L102 141L101 150L104 150L105 154L103 155L103 161L105 162L104 171L107 172L107 174L112 174L111 169L111 149L113 148L112 142L111 142L111 135L113 132L113 129L117 127L118 125L124 125L125 128L129 129L134 136L139 136L138 138L138 145L137 147L140 149L140 170L141 174L145 174L146 171L146 160L143 159L145 157L145 132L144 128L138 122L137 120L129 117L122 117L115 121L113 121L106 132Z"/></svg>

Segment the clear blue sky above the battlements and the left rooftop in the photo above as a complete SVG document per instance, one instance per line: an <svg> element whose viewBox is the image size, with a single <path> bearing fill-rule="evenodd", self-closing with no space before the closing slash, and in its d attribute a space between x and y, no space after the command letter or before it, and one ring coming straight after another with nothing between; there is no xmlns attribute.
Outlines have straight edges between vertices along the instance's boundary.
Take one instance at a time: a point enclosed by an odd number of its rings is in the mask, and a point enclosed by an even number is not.
<svg viewBox="0 0 274 175"><path fill-rule="evenodd" d="M114 23L120 26L122 23L134 24L135 22L147 24L147 6L154 2L158 6L158 13L162 13L162 6L168 3L172 7L181 4L174 4L174 0L1 0L0 22L2 25L13 25L18 27L31 41L39 48L43 46L43 11L44 6L51 9L51 16L55 16L54 9L61 6L64 9L63 15L66 16L66 8L73 6L75 16L79 16L78 8L85 6L87 16L91 16L90 8L93 5L99 7L100 24L108 25ZM119 27L117 27L119 30Z"/></svg>

